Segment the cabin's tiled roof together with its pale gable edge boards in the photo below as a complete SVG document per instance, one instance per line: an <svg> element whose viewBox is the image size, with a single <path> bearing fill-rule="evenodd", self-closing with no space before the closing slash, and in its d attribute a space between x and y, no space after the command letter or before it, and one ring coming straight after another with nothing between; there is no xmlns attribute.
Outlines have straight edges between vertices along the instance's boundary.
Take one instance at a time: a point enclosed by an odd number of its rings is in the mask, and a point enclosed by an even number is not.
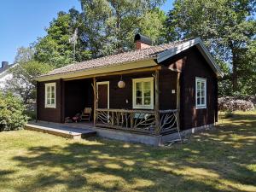
<svg viewBox="0 0 256 192"><path fill-rule="evenodd" d="M83 61L83 62L76 62L73 64L70 64L65 67L61 68L56 68L55 70L39 76L36 80L38 81L44 81L44 80L51 80L51 79L65 79L66 77L70 77L70 74L72 76L80 76L84 72L96 70L96 69L102 69L106 67L117 67L117 66L130 66L131 63L135 63L134 68L138 67L149 67L149 66L154 66L157 65L158 62L164 61L164 58L169 58L166 57L166 53L170 56L176 55L179 52L189 49L191 46L194 46L195 43L198 41L199 38L195 39L185 39L182 41L175 41L169 44L160 44L156 46L151 46L146 49L136 49L136 50L131 50L125 53L120 53L116 55L108 55L104 57L100 57L97 59L92 59L89 61ZM202 46L200 42L200 47ZM207 49L202 49L203 52L207 52ZM171 51L172 54L170 54ZM218 77L222 76L222 72L220 71L218 65L213 61L212 56L207 52L204 56L207 57L207 61L210 62L209 64L211 65L213 71L217 73ZM161 58L160 58L161 57ZM209 59L210 57L210 59ZM141 61L148 61L148 60L154 60L154 64L148 63L148 66L143 64L143 65L137 65L136 62L141 62ZM132 67L124 67L126 70L130 69ZM94 71L96 73L96 71ZM90 74L94 73L90 72ZM110 72L109 70L107 73Z"/></svg>

